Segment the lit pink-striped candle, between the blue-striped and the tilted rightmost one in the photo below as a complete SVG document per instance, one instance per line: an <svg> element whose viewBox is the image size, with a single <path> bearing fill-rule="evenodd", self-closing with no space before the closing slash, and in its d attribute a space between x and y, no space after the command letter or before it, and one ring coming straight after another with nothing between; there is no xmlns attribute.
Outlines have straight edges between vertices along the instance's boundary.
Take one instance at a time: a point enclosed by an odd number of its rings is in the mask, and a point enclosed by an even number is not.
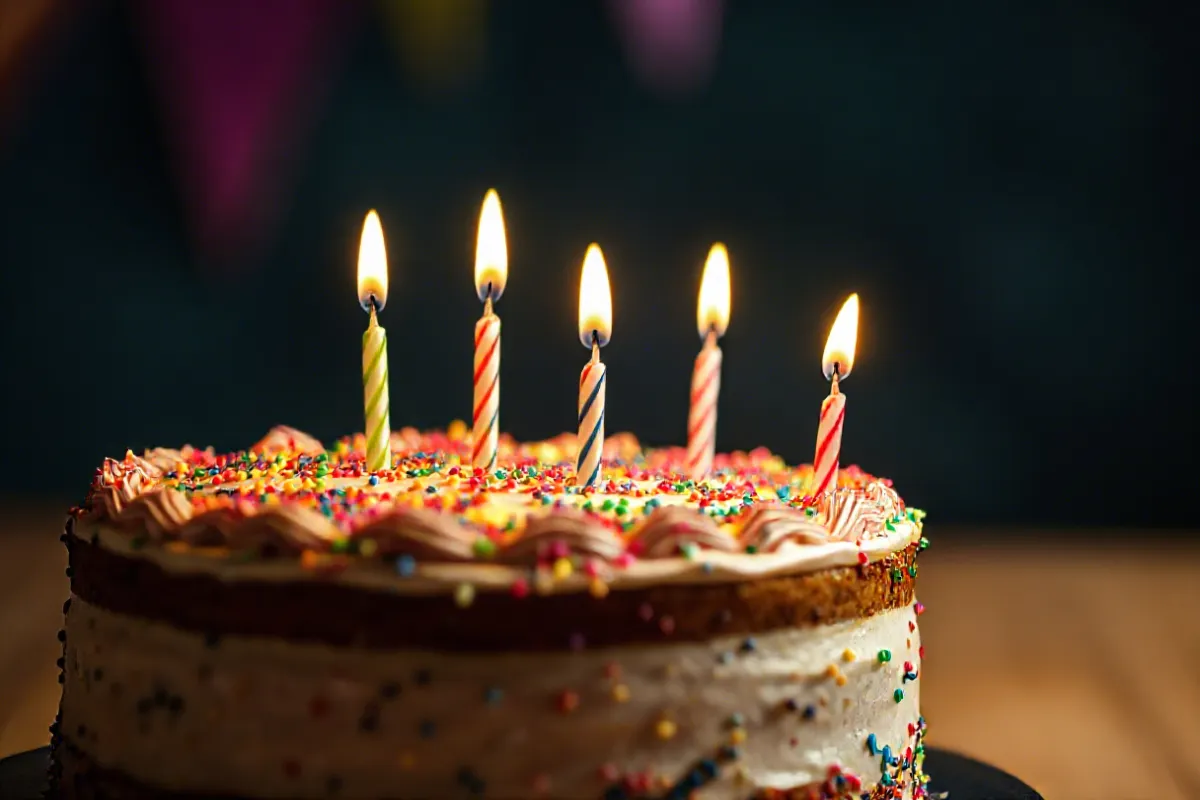
<svg viewBox="0 0 1200 800"><path fill-rule="evenodd" d="M688 410L688 473L701 480L713 469L716 449L716 397L721 391L721 348L716 339L730 324L730 254L725 245L713 245L700 281L696 329L704 347L691 373Z"/></svg>

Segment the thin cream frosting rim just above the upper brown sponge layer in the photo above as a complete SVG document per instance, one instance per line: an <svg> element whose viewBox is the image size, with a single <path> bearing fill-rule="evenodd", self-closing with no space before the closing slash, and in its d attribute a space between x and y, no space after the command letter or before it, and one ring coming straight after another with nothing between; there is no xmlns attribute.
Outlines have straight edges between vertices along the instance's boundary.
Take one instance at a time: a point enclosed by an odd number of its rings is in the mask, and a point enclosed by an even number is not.
<svg viewBox="0 0 1200 800"><path fill-rule="evenodd" d="M784 575L816 572L838 566L859 564L859 553L876 561L896 553L920 539L918 524L901 521L895 530L884 531L875 539L854 541L829 541L802 543L786 541L769 553L722 553L703 551L694 559L659 558L637 560L625 567L604 567L605 583L612 590L636 589L665 584L731 583L746 579L769 578ZM175 573L202 573L223 581L278 581L290 582L312 576L295 559L238 561L228 551L214 548L208 554L203 548L175 551L169 546L134 547L128 534L113 530L103 524L79 522L77 534L84 540L92 535L98 543L110 551L150 560ZM481 563L419 563L410 577L401 578L388 564L366 559L350 559L344 570L329 576L328 581L400 594L451 594L462 584L470 584L479 591L506 591L512 584L529 581L529 567L505 566ZM590 578L574 573L562 579L530 582L539 593L586 591Z"/></svg>

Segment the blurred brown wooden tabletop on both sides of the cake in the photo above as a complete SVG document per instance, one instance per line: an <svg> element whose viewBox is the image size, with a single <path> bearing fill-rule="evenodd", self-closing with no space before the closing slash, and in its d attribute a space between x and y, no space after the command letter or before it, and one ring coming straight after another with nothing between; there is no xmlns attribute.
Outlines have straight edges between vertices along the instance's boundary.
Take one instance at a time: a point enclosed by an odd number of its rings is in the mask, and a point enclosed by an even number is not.
<svg viewBox="0 0 1200 800"><path fill-rule="evenodd" d="M49 738L67 595L61 512L5 517L0 756ZM1088 547L1081 535L929 535L919 594L930 744L1013 772L1048 800L1200 798L1200 536L1128 533Z"/></svg>

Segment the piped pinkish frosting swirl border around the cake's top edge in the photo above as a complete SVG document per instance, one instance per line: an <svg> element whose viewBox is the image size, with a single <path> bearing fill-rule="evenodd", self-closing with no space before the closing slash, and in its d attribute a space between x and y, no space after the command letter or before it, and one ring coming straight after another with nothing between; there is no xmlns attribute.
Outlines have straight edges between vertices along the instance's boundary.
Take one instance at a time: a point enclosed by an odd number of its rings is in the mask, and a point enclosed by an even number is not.
<svg viewBox="0 0 1200 800"><path fill-rule="evenodd" d="M420 441L408 429L396 435L410 447ZM625 451L637 449L635 439L622 434L613 437L611 444ZM294 428L274 428L251 453L256 451L257 458L274 453L272 463L278 463L284 453L293 458L289 463L296 467L296 476L284 483L299 485L300 492L306 483L312 485L308 474L320 477L326 471L323 445ZM424 452L416 456L427 457ZM401 455L400 462L404 458ZM164 480L188 463L200 464L196 467L197 475L214 485L220 483L222 468L227 479L233 473L232 479L239 482L229 489L196 492ZM354 463L353 456L349 463ZM175 473L169 471L173 468ZM140 457L127 452L120 461L104 461L86 501L72 511L72 517L88 525L90 535L102 539L106 546L128 549L157 546L168 559L170 554L187 553L245 564L290 557L312 572L341 572L364 563L384 561L401 576L416 572L416 565L421 565L421 571L432 570L434 575L430 577L437 581L442 577L436 573L450 565L492 567L474 576L484 585L511 584L516 579L512 570L528 567L551 569L556 578L580 567L588 573L586 577L595 578L600 572L629 571L637 563L664 561L672 564L671 572L676 576L706 581L762 573L763 564L750 565L772 559L786 564L786 569L800 570L862 564L917 540L924 517L922 511L905 506L889 481L870 479L860 487L844 486L815 498L787 498L786 503L788 487L779 489L779 503L755 503L746 494L720 525L695 507L660 504L652 497L644 503L644 516L626 522L624 530L614 529L611 518L590 511L592 493L582 489L577 491L583 495L580 507L564 504L562 498L552 501L541 495L545 510L532 511L524 524L503 531L485 530L445 510L446 500L432 497L437 493L432 485L427 487L430 498L409 493L392 499L385 494L391 499L388 507L368 509L347 523L330 518L328 510L319 506L250 501L251 489L244 476L245 470L233 470L224 457L211 451L158 449ZM374 475L362 476L372 485L378 482ZM469 480L476 479L472 475ZM505 486L512 483L509 477ZM562 488L571 492L572 487L568 482ZM536 483L520 489L534 497L540 491ZM270 500L277 495L263 497ZM469 497L474 501L484 495ZM612 500L605 503L611 505ZM707 504L701 498L700 505ZM124 541L108 536L109 533L124 536ZM788 558L779 559L780 554ZM756 558L739 558L746 555ZM502 567L510 570L505 573ZM240 567L228 571L254 572ZM504 577L497 579L497 576ZM641 577L659 581L665 576L661 569L649 569ZM632 583L638 583L638 576L632 577Z"/></svg>

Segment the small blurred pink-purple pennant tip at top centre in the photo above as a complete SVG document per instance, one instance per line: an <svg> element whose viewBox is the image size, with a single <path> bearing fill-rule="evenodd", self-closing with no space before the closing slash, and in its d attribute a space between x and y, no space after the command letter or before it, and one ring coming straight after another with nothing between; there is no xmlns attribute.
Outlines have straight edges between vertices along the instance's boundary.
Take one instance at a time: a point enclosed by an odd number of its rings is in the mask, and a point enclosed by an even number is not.
<svg viewBox="0 0 1200 800"><path fill-rule="evenodd" d="M721 0L610 0L630 66L670 94L707 84L721 43Z"/></svg>

